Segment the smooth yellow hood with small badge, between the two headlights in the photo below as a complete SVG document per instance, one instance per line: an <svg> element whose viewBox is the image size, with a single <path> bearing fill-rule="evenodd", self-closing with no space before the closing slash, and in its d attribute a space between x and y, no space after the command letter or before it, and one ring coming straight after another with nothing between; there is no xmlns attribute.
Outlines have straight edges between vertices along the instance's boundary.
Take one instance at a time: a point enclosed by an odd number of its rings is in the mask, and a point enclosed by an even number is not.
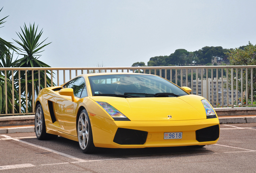
<svg viewBox="0 0 256 173"><path fill-rule="evenodd" d="M206 119L206 113L197 95L181 97L91 97L94 101L109 103L131 121L180 121ZM171 118L168 117L171 115Z"/></svg>

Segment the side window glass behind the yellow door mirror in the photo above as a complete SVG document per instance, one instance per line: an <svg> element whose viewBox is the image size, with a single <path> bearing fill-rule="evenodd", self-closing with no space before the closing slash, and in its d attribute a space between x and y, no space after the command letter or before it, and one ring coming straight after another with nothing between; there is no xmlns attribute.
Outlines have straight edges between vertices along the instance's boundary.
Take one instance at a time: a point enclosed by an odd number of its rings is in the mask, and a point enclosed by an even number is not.
<svg viewBox="0 0 256 173"><path fill-rule="evenodd" d="M83 77L75 78L70 82L66 83L63 88L72 88L75 97L81 97L81 93L85 87L85 79ZM83 92L84 93L84 92ZM87 94L87 92L86 92Z"/></svg>

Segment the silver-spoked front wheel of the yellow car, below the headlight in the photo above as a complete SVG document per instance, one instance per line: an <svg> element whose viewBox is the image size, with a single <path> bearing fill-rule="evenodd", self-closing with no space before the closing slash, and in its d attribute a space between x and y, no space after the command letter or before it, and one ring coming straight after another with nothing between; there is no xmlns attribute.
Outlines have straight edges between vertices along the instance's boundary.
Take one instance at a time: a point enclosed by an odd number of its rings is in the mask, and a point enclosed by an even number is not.
<svg viewBox="0 0 256 173"><path fill-rule="evenodd" d="M95 146L93 144L93 133L91 131L91 123L88 113L83 109L77 122L77 137L81 150L83 153L93 153Z"/></svg>

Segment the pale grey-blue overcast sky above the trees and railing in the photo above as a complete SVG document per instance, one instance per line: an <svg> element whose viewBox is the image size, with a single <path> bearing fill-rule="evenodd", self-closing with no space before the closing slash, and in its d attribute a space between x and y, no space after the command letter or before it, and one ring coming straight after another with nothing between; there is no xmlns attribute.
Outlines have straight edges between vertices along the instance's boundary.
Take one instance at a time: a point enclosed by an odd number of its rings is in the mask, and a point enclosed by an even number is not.
<svg viewBox="0 0 256 173"><path fill-rule="evenodd" d="M176 49L256 44L255 0L0 0L0 37L43 28L52 67L131 66Z"/></svg>

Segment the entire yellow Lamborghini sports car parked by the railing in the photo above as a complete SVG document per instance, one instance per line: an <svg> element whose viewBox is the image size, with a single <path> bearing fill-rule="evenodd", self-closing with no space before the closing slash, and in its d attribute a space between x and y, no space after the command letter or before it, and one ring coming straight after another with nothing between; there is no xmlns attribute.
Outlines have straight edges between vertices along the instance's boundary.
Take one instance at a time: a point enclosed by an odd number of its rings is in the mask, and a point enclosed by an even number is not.
<svg viewBox="0 0 256 173"><path fill-rule="evenodd" d="M217 143L219 119L206 99L160 76L82 74L36 99L37 139L78 141L84 153L97 147L145 148Z"/></svg>

